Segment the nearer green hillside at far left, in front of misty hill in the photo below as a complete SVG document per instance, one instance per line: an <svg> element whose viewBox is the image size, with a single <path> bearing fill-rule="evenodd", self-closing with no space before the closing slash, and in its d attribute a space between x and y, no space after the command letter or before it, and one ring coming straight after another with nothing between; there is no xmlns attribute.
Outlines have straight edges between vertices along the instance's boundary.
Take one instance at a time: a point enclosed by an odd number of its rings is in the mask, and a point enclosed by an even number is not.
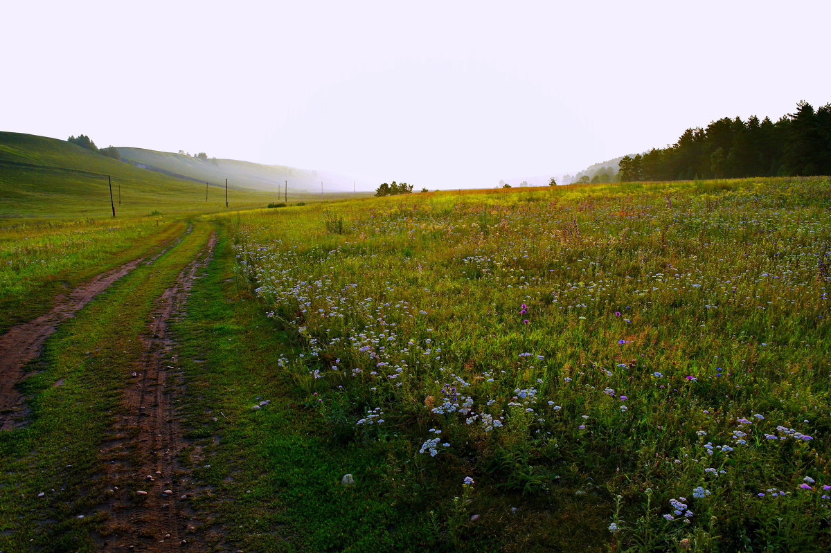
<svg viewBox="0 0 831 553"><path fill-rule="evenodd" d="M119 215L224 209L224 182L207 187L206 201L204 183L140 169L64 140L0 132L0 218L110 215L108 175ZM273 194L238 189L230 204L263 206L271 199Z"/></svg>

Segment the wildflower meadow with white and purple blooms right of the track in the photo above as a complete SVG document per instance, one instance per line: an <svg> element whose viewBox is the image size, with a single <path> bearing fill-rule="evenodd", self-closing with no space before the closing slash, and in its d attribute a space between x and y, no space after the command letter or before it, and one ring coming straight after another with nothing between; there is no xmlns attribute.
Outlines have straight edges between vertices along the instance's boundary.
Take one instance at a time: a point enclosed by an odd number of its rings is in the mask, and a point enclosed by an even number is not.
<svg viewBox="0 0 831 553"><path fill-rule="evenodd" d="M222 220L296 348L273 370L435 544L828 551L829 206L747 179Z"/></svg>

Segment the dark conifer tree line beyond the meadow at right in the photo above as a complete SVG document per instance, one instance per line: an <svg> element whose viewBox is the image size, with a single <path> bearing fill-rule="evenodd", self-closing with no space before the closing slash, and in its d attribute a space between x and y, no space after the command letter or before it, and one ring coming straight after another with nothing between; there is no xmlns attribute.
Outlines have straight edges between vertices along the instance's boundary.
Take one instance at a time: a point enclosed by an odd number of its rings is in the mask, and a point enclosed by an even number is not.
<svg viewBox="0 0 831 553"><path fill-rule="evenodd" d="M675 144L627 155L619 180L689 180L831 174L831 104L800 101L773 122L725 117L687 129Z"/></svg>

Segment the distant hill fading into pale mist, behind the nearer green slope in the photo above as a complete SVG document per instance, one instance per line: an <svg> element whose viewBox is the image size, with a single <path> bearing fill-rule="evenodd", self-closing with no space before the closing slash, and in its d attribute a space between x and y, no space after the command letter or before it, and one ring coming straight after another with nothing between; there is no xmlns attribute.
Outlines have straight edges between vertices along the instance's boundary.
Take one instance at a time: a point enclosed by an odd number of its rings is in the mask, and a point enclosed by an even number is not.
<svg viewBox="0 0 831 553"><path fill-rule="evenodd" d="M289 199L293 199L293 195L294 198L298 198L298 195L302 197L310 193L320 194L321 183L327 193L352 192L353 179L325 171L255 164L236 159L199 159L186 154L158 152L152 149L116 149L123 161L136 167L199 183L224 186L225 179L228 179L230 188L274 192L283 191L288 181Z"/></svg>

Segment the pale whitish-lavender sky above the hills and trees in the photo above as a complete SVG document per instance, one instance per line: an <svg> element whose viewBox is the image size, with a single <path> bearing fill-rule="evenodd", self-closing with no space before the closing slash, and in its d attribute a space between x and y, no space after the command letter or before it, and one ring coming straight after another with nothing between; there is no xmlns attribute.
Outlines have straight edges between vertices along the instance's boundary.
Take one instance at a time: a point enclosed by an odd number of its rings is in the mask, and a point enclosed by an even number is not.
<svg viewBox="0 0 831 553"><path fill-rule="evenodd" d="M831 102L829 0L4 2L0 130L494 187Z"/></svg>

